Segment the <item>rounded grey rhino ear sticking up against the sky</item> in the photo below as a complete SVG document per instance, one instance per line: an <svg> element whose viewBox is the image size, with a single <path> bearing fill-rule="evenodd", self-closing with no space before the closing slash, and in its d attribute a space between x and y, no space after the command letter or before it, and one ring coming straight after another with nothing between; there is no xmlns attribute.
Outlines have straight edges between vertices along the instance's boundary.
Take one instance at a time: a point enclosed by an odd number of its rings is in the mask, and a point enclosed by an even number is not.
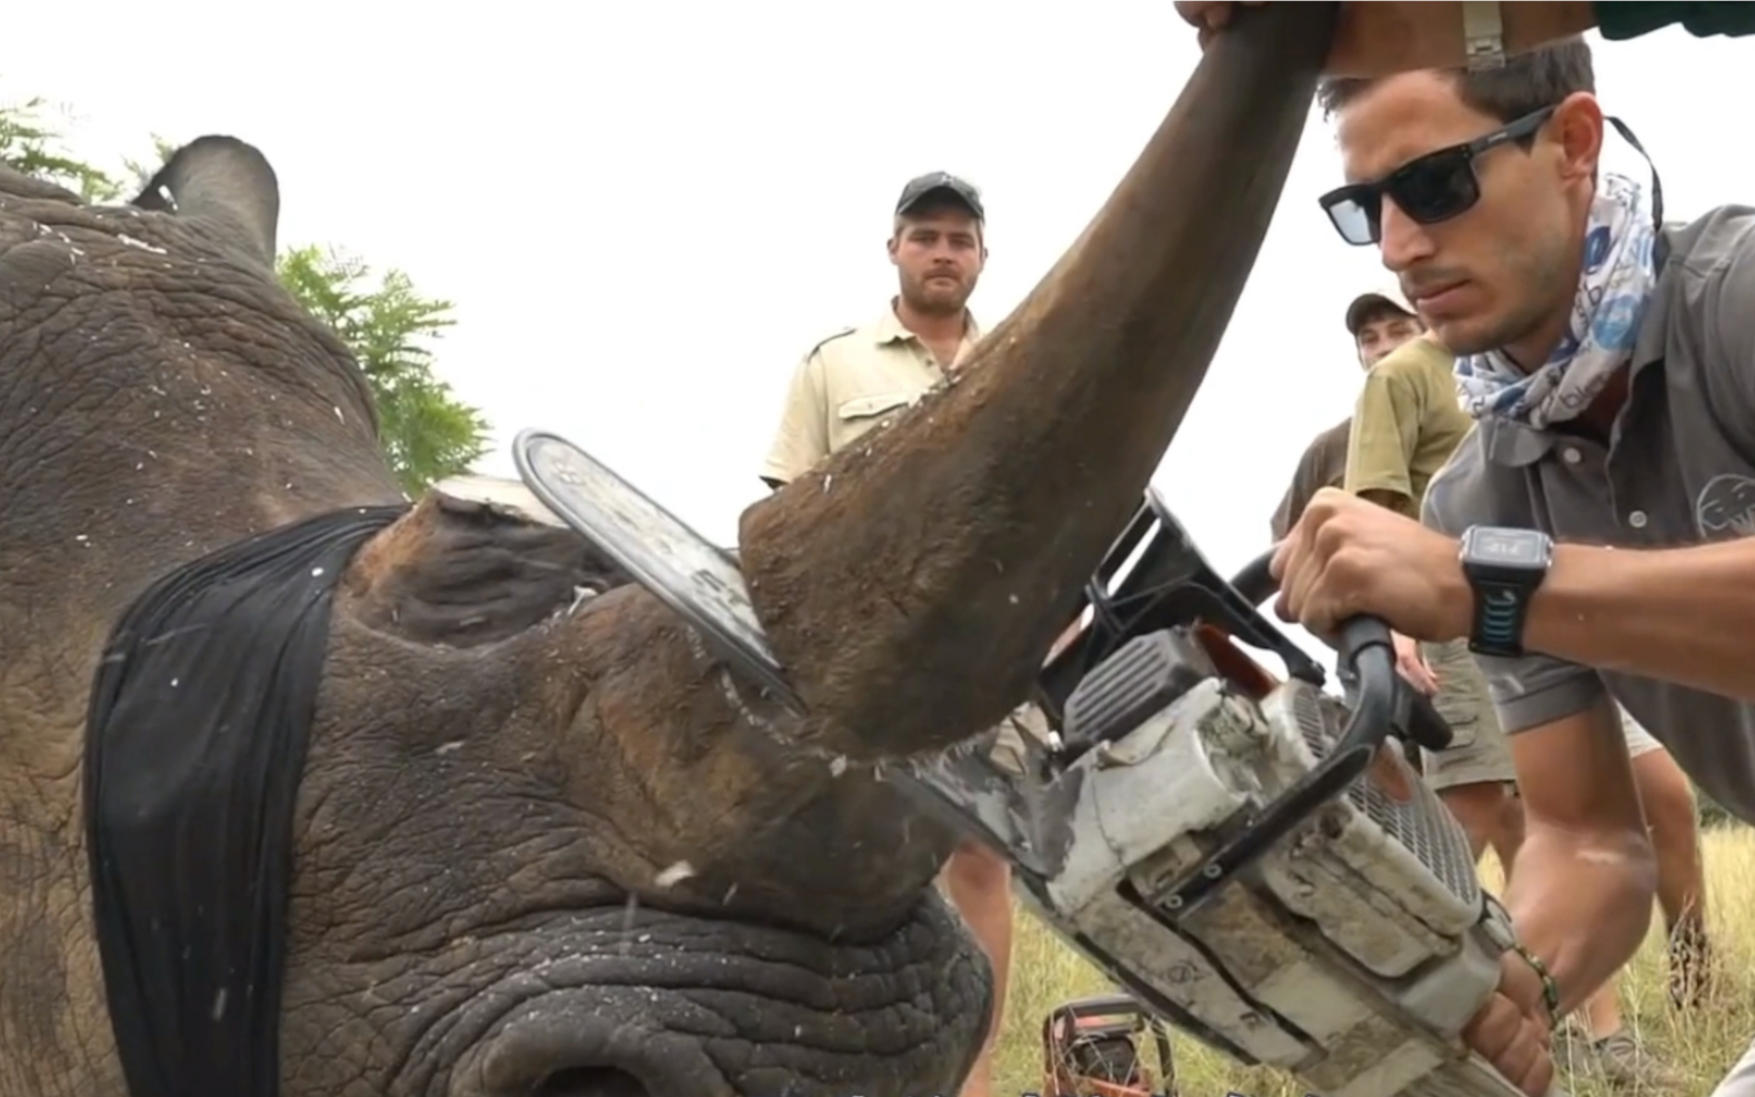
<svg viewBox="0 0 1755 1097"><path fill-rule="evenodd" d="M133 205L209 221L233 246L274 269L281 184L269 158L237 137L197 137L183 146Z"/></svg>

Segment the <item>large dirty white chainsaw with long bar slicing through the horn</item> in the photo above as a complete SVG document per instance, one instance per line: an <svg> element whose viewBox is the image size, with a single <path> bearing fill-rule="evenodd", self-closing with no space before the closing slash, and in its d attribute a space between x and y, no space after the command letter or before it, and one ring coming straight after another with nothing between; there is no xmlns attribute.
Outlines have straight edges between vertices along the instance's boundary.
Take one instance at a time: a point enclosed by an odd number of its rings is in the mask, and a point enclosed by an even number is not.
<svg viewBox="0 0 1755 1097"><path fill-rule="evenodd" d="M530 493L770 693L802 711L735 558L565 439L525 430ZM1516 1097L1460 1032L1516 946L1467 835L1392 739L1450 728L1402 685L1388 627L1344 623L1343 695L1258 609L1267 556L1220 577L1157 491L1035 683L1023 776L978 744L886 769L923 813L1004 855L1018 899L1144 1011L1323 1097ZM1244 646L1281 660L1281 681Z"/></svg>

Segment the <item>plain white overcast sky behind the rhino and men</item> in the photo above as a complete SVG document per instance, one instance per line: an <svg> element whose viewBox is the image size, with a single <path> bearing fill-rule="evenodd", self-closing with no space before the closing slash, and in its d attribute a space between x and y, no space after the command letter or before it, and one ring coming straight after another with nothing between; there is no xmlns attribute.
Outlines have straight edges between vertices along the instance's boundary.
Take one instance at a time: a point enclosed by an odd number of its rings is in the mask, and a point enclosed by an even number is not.
<svg viewBox="0 0 1755 1097"><path fill-rule="evenodd" d="M720 544L765 491L799 356L893 293L902 183L944 168L983 188L972 307L993 326L1199 56L1169 0L12 7L0 100L70 109L77 153L242 137L279 174L283 247L339 244L453 300L435 349L495 427L477 470L512 476L511 437L556 430ZM1755 200L1732 135L1755 44L1592 42L1606 111L1644 140L1676 216ZM1383 270L1314 205L1337 176L1313 112L1155 479L1221 570L1267 546L1306 442L1351 407L1341 314Z"/></svg>

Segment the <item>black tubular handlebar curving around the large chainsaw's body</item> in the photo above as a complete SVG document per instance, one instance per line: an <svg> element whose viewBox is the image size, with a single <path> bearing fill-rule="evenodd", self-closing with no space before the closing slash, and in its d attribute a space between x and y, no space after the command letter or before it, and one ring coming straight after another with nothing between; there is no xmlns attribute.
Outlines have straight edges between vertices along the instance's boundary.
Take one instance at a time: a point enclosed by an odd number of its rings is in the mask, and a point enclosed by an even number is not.
<svg viewBox="0 0 1755 1097"><path fill-rule="evenodd" d="M1272 558L1272 551L1264 553L1232 579L1232 588L1253 606L1279 592L1279 581L1269 567ZM1372 756L1390 734L1413 739L1427 749L1450 746L1450 725L1430 700L1402 683L1395 669L1395 641L1383 618L1357 616L1341 623L1341 662L1357 681L1351 716L1341 739L1313 771L1264 807L1260 818L1214 850L1171 890L1165 904L1172 911L1199 902L1292 834L1318 807L1344 793L1371 769Z"/></svg>

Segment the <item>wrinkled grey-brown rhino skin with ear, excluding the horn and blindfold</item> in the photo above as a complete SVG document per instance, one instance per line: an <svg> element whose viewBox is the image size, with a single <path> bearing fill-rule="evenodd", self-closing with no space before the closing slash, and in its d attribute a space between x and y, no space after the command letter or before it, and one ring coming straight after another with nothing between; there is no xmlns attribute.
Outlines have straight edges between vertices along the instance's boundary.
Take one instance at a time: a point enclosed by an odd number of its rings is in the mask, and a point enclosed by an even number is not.
<svg viewBox="0 0 1755 1097"><path fill-rule="evenodd" d="M5 1097L121 1093L75 809L109 625L198 553L400 498L355 363L274 281L269 163L202 139L160 181L174 212L0 176ZM869 769L800 774L723 681L570 532L428 497L367 544L297 818L283 1093L949 1090L988 976L928 888L946 835Z"/></svg>

